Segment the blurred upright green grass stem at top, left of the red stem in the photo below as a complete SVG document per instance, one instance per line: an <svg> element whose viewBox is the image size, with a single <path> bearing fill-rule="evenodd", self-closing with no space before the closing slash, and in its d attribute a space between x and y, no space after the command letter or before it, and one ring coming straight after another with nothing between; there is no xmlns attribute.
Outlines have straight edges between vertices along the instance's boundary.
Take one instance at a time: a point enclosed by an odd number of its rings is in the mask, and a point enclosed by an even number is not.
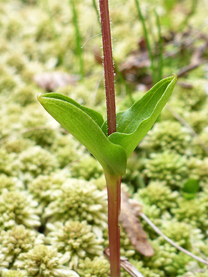
<svg viewBox="0 0 208 277"><path fill-rule="evenodd" d="M77 21L77 12L74 5L74 0L70 0L70 5L73 14L73 23L75 29L75 36L76 36L76 54L79 57L79 74L81 79L84 77L84 69L83 69L83 59L82 59L82 47L81 47L81 36L79 32L79 25Z"/></svg>

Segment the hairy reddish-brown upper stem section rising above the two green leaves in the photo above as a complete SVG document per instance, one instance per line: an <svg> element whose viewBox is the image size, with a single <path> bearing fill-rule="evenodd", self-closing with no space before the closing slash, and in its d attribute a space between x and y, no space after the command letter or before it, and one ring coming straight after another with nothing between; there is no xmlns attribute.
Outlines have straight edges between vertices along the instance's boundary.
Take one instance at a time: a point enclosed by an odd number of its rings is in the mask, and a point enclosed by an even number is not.
<svg viewBox="0 0 208 277"><path fill-rule="evenodd" d="M111 27L108 0L99 0L99 2L104 55L103 63L105 69L108 135L111 135L112 133L116 132L116 101L114 86L114 65L111 45Z"/></svg>

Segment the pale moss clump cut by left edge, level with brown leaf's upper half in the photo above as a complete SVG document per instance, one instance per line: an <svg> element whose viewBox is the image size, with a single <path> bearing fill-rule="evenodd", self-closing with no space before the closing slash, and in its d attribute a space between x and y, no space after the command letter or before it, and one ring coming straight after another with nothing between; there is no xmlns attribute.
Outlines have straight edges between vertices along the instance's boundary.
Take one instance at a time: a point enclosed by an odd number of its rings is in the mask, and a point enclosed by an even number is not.
<svg viewBox="0 0 208 277"><path fill-rule="evenodd" d="M0 195L0 228L7 230L16 224L29 228L40 226L37 205L25 191L3 191Z"/></svg>

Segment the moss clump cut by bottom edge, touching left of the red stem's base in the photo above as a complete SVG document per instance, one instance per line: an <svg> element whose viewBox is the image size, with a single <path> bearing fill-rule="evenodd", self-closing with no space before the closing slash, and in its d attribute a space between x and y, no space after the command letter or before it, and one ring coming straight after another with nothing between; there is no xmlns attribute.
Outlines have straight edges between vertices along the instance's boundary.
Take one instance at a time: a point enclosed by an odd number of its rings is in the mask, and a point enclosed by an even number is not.
<svg viewBox="0 0 208 277"><path fill-rule="evenodd" d="M80 277L109 277L110 264L104 257L95 257L93 260L87 257L80 261L77 272Z"/></svg>

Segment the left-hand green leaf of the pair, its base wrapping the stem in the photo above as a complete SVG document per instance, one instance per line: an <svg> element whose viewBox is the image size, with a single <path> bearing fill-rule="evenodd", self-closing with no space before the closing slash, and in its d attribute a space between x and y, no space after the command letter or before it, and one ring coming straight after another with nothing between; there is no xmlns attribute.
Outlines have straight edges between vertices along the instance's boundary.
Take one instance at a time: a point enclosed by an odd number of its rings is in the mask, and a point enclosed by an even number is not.
<svg viewBox="0 0 208 277"><path fill-rule="evenodd" d="M126 153L101 130L102 115L58 93L39 94L38 100L50 115L92 153L104 171L116 176L125 174Z"/></svg>

